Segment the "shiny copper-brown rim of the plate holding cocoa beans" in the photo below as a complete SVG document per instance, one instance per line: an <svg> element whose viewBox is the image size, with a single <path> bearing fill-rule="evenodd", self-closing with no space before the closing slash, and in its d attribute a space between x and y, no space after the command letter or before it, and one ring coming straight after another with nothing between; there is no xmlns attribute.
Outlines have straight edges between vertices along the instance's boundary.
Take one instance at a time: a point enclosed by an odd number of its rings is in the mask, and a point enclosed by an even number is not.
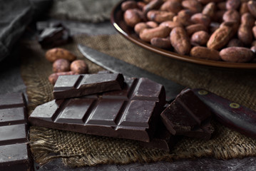
<svg viewBox="0 0 256 171"><path fill-rule="evenodd" d="M189 63L198 63L204 66L215 66L220 68L247 68L247 69L255 69L256 63L229 63L224 61L210 61L200 58L193 58L190 56L183 56L178 53L167 51L162 48L156 48L155 46L151 46L150 43L146 43L141 41L138 38L138 35L133 31L133 28L127 26L126 23L123 21L123 11L121 10L121 4L123 1L120 1L112 10L111 12L111 23L116 28L118 33L121 33L122 36L127 38L129 41L146 48L150 51L158 53L163 56L167 56L169 58L175 58L180 61L186 61Z"/></svg>

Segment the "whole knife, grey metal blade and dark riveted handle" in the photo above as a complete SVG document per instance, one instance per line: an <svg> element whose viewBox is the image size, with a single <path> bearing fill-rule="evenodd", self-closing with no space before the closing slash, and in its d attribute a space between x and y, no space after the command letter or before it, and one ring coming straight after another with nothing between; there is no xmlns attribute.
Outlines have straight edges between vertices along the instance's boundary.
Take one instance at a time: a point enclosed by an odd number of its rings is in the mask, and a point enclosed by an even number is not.
<svg viewBox="0 0 256 171"><path fill-rule="evenodd" d="M152 81L162 84L165 86L166 96L169 97L167 100L174 100L180 91L185 88L178 83L157 76L143 70L142 68L126 63L125 61L108 56L107 54L96 51L93 48L78 45L78 49L81 51L83 56L88 58L90 61L93 61L93 63L106 68L108 71L113 73L123 73L124 76L128 77L146 77ZM220 120L223 125L252 138L256 138L256 112L254 110L237 103L233 103L232 101L215 95L207 90L192 90L195 95L198 95L198 97L208 105L210 110L215 114L215 117Z"/></svg>

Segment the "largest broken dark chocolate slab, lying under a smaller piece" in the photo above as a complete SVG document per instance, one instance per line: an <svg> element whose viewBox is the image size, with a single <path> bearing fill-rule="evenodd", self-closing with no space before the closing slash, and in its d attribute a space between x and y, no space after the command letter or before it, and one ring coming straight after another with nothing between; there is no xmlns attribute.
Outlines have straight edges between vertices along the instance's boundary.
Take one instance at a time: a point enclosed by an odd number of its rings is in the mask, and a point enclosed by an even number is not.
<svg viewBox="0 0 256 171"><path fill-rule="evenodd" d="M32 125L149 142L165 105L165 89L147 78L130 78L122 90L52 100L29 116Z"/></svg>

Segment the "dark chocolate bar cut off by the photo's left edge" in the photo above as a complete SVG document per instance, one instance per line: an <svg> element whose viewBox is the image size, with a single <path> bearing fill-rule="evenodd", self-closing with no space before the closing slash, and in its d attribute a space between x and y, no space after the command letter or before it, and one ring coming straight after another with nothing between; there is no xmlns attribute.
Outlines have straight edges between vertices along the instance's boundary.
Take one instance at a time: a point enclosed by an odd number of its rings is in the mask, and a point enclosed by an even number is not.
<svg viewBox="0 0 256 171"><path fill-rule="evenodd" d="M0 96L0 170L34 170L28 144L24 95Z"/></svg>

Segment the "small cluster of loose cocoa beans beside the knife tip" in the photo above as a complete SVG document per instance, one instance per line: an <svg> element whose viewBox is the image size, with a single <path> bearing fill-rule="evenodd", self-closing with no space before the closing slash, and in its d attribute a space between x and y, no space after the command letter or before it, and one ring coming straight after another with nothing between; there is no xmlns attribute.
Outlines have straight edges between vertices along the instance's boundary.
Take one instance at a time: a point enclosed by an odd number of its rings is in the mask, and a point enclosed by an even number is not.
<svg viewBox="0 0 256 171"><path fill-rule="evenodd" d="M55 84L58 76L76 75L88 73L88 65L85 61L64 48L52 48L46 51L46 59L53 63L53 73L48 76L48 81Z"/></svg>

